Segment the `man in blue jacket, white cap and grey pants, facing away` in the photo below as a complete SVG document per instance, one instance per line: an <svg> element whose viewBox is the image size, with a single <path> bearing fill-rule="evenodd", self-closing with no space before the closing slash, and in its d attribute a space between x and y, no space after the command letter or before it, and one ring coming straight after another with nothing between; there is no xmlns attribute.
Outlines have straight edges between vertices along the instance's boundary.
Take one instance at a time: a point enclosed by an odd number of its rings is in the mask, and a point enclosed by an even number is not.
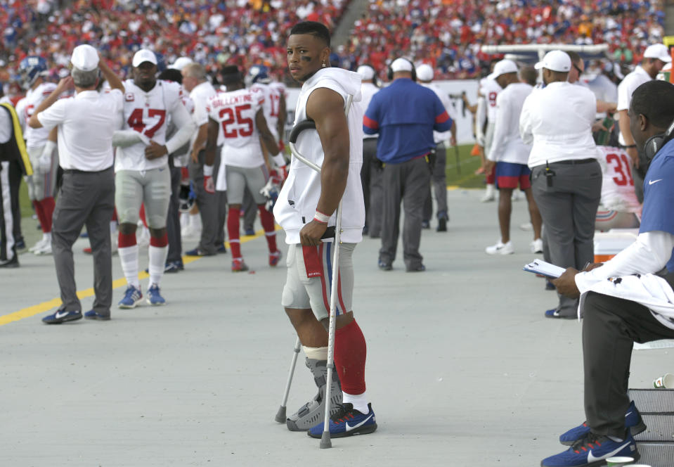
<svg viewBox="0 0 674 467"><path fill-rule="evenodd" d="M419 252L422 214L431 181L429 155L433 131L446 132L452 120L436 94L416 83L413 63L396 58L389 67L393 82L372 96L363 116L363 131L379 133L377 158L384 163L382 248L379 267L390 271L396 259L400 203L405 208L403 259L408 272L425 271Z"/></svg>

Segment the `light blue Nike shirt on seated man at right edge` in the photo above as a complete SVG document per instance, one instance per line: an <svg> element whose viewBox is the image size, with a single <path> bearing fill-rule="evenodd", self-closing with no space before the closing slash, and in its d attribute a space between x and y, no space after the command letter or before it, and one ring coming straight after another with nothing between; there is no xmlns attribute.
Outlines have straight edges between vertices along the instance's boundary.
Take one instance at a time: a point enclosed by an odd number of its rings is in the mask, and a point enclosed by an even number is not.
<svg viewBox="0 0 674 467"><path fill-rule="evenodd" d="M639 233L663 231L674 235L674 140L655 155L644 177L644 208ZM667 270L674 271L673 255Z"/></svg>

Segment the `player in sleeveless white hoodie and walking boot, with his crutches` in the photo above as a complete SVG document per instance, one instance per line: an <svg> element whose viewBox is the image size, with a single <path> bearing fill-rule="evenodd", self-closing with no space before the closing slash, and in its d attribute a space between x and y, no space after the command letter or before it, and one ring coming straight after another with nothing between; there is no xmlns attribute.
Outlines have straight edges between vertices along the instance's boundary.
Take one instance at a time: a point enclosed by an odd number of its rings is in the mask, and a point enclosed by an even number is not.
<svg viewBox="0 0 674 467"><path fill-rule="evenodd" d="M288 244L282 304L319 387L317 397L288 417L287 426L291 430L309 430L310 436L322 438L320 447L330 447L330 437L372 433L377 428L365 394L365 338L351 307L351 256L356 243L362 240L365 224L360 179L361 77L329 68L329 57L330 35L324 25L304 22L292 28L287 44L288 65L292 77L303 83L295 119L313 120L316 129L305 129L297 135L294 149L306 161L292 159L290 174L274 207L274 216L283 227ZM350 106L349 96L354 101ZM320 172L306 162L320 167ZM340 200L341 225L337 225ZM331 227L337 227L337 241L325 238ZM333 257L335 250L337 260ZM331 295L335 309L335 373L328 368L333 352L329 333L325 332L330 328ZM338 395L335 388L339 388L337 378L343 400L333 411ZM330 419L325 415L327 399L328 416L333 412Z"/></svg>

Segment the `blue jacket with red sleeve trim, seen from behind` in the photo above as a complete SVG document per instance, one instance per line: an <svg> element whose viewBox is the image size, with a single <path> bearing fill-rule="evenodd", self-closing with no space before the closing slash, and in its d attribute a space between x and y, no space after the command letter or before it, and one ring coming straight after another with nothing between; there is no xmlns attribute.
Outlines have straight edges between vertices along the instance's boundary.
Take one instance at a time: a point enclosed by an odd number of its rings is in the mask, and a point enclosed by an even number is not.
<svg viewBox="0 0 674 467"><path fill-rule="evenodd" d="M363 132L379 133L377 159L400 164L435 148L433 130L446 132L452 119L436 94L409 78L395 79L372 96Z"/></svg>

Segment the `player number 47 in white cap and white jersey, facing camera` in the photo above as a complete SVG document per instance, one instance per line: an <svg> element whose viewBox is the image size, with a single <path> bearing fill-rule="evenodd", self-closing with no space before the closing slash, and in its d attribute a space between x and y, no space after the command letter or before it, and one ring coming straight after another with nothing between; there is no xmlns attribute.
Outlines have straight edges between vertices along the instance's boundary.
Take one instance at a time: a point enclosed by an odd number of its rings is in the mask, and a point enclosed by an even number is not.
<svg viewBox="0 0 674 467"><path fill-rule="evenodd" d="M150 286L148 303L164 305L160 281L167 257L166 220L171 197L168 154L183 146L195 132L195 125L181 101L181 87L157 80L155 53L141 49L134 55L133 79L124 82L122 129L112 144L115 158L115 207L119 217L119 260L129 284L120 308L134 308L143 298L138 280L136 227L141 204L150 227L148 248ZM167 141L167 120L178 130Z"/></svg>

